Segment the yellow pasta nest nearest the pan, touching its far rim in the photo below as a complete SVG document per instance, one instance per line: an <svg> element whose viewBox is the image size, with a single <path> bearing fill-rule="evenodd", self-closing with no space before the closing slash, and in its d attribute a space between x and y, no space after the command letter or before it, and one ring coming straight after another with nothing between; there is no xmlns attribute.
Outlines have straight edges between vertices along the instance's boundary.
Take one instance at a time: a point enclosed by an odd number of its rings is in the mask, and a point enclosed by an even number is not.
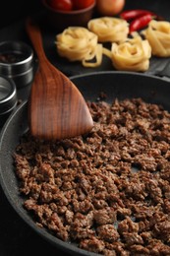
<svg viewBox="0 0 170 256"><path fill-rule="evenodd" d="M128 38L120 44L112 43L111 59L117 70L145 71L149 67L151 47L141 36Z"/></svg>

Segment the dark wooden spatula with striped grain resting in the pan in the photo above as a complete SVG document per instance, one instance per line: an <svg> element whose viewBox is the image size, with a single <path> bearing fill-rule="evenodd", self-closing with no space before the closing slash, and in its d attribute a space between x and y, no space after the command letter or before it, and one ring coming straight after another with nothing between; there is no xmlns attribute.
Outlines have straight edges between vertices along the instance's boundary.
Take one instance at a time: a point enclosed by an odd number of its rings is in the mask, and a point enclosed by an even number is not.
<svg viewBox="0 0 170 256"><path fill-rule="evenodd" d="M45 140L85 134L93 126L85 98L71 80L48 61L39 26L28 18L26 28L39 60L28 99L31 134Z"/></svg>

